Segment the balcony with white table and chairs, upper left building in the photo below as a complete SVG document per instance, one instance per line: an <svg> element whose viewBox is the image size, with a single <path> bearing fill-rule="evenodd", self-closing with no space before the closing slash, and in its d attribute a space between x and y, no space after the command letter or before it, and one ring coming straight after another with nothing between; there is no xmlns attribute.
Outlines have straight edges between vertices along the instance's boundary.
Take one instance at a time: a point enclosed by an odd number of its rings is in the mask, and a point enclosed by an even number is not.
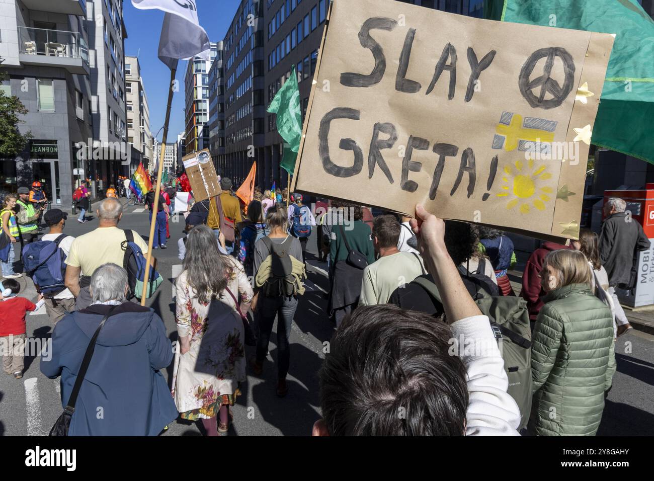
<svg viewBox="0 0 654 481"><path fill-rule="evenodd" d="M88 75L88 46L79 32L18 27L20 63Z"/></svg>

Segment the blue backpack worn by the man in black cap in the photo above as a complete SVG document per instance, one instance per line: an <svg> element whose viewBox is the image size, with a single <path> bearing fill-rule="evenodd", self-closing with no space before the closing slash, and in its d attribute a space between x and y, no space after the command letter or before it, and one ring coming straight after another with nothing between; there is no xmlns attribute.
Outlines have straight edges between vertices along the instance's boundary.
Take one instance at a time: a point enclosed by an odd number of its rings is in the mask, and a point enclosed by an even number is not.
<svg viewBox="0 0 654 481"><path fill-rule="evenodd" d="M23 248L22 260L27 276L45 297L52 297L66 289L66 255L59 243L66 238L61 234L54 241L38 241Z"/></svg>

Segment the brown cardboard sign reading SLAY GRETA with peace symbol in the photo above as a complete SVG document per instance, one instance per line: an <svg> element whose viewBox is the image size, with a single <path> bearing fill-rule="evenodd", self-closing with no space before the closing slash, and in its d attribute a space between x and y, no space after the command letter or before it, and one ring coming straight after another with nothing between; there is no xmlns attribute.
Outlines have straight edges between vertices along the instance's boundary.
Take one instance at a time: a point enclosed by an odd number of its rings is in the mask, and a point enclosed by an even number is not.
<svg viewBox="0 0 654 481"><path fill-rule="evenodd" d="M332 4L292 188L577 238L613 35Z"/></svg>

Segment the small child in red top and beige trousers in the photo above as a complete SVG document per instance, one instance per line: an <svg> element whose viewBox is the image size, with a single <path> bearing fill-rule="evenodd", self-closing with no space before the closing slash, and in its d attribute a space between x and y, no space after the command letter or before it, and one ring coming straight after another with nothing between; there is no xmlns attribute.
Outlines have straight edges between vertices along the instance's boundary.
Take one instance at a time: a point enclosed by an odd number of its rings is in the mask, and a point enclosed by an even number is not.
<svg viewBox="0 0 654 481"><path fill-rule="evenodd" d="M25 315L43 304L42 297L35 305L24 297L18 297L20 284L15 279L5 279L0 289L0 353L2 366L14 378L23 377L25 357Z"/></svg>

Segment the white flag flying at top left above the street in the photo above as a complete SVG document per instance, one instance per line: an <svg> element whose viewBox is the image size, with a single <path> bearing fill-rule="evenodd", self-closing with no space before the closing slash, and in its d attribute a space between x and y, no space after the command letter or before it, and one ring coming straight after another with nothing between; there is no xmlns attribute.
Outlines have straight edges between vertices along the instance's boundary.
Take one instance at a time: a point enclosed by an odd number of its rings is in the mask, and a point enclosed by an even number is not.
<svg viewBox="0 0 654 481"><path fill-rule="evenodd" d="M162 35L159 39L159 59L170 69L179 59L202 56L209 60L209 35L198 21L197 0L131 0L137 9L163 10Z"/></svg>

